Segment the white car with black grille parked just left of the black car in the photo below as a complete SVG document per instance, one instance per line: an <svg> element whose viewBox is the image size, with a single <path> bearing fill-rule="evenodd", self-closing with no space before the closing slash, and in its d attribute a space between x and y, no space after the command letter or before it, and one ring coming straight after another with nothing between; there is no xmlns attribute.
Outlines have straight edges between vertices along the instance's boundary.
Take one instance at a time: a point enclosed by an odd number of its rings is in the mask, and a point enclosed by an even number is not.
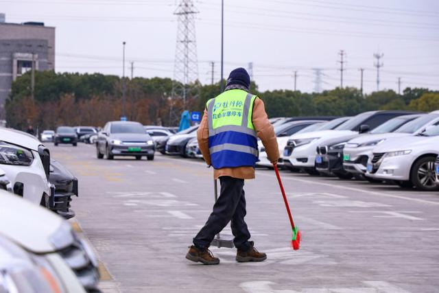
<svg viewBox="0 0 439 293"><path fill-rule="evenodd" d="M413 114L397 110L379 110L361 113L344 122L334 130L320 130L294 134L287 143L283 160L285 165L304 169L309 174L318 174L316 170L316 149L327 139L348 137L356 133L366 133L377 128L394 117Z"/></svg>

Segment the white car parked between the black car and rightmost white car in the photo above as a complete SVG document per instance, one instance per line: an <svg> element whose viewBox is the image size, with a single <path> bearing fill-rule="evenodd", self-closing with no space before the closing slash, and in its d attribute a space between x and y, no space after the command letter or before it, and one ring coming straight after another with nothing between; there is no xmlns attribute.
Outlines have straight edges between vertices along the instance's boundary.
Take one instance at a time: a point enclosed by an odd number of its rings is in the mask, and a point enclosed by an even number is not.
<svg viewBox="0 0 439 293"><path fill-rule="evenodd" d="M412 115L405 115L394 119L404 119ZM392 120L394 120L392 119ZM390 122L390 121L389 121ZM400 128L390 133L379 133L379 128L375 128L369 135L364 135L351 139L344 146L344 162L343 167L346 171L353 174L365 174L366 166L370 156L372 156L372 150L383 143L386 139L394 137L408 137L410 135L416 135L423 132L425 128L430 125L439 123L439 113L429 113L421 115L420 117L403 124Z"/></svg>

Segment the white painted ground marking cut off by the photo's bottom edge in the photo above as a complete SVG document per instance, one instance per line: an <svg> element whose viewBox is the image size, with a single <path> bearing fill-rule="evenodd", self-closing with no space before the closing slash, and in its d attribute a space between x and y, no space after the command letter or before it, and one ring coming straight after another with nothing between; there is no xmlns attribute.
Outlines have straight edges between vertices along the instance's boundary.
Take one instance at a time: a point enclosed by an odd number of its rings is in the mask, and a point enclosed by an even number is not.
<svg viewBox="0 0 439 293"><path fill-rule="evenodd" d="M353 288L305 288L300 291L296 290L276 290L272 288L272 285L276 283L272 281L249 281L240 283L239 287L247 293L373 293L373 292L383 292L383 293L409 293L402 288L396 287L388 282L384 281L363 281L368 287L353 287Z"/></svg>

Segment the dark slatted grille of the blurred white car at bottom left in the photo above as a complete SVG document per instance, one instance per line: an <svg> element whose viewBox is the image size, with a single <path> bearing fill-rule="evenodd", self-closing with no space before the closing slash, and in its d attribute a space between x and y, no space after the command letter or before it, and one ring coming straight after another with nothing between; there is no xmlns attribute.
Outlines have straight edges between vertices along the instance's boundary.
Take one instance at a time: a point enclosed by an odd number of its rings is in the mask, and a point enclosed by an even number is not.
<svg viewBox="0 0 439 293"><path fill-rule="evenodd" d="M59 251L60 256L73 270L87 292L99 292L99 271L88 258L84 246L78 239L67 248Z"/></svg>

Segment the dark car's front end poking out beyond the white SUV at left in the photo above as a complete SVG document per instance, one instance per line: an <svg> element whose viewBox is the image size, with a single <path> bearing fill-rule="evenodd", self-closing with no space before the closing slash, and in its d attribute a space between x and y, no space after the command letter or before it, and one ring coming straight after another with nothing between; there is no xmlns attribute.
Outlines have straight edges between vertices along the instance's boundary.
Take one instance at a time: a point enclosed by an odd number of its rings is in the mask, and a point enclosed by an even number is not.
<svg viewBox="0 0 439 293"><path fill-rule="evenodd" d="M65 219L75 216L71 210L71 197L78 196L78 179L60 162L51 159L49 182L55 186L54 205L51 210Z"/></svg>

